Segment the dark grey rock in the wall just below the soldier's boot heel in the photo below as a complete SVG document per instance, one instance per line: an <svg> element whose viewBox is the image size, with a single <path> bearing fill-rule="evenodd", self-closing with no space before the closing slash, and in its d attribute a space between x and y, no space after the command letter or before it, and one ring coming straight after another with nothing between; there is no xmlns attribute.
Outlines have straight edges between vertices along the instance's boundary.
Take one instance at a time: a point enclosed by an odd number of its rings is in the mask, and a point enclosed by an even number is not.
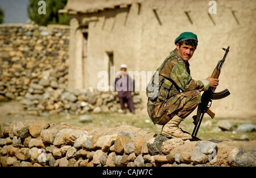
<svg viewBox="0 0 256 178"><path fill-rule="evenodd" d="M162 154L162 144L168 140L166 136L157 135L147 142L147 148L151 155Z"/></svg>

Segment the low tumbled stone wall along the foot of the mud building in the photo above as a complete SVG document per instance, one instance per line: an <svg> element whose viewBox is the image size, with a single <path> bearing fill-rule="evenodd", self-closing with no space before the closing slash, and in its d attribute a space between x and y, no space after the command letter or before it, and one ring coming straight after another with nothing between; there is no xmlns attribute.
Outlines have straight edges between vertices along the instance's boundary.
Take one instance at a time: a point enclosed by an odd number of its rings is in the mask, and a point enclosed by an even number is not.
<svg viewBox="0 0 256 178"><path fill-rule="evenodd" d="M80 92L80 90L65 88L54 89L52 86L43 87L41 81L31 87L38 88L35 90L42 92L42 94L28 92L20 101L30 114L46 116L56 113L85 114L122 111L116 92L99 92L98 90ZM44 80L44 82L50 83L48 80ZM135 93L133 98L135 109L137 111L142 109L141 97L138 93Z"/></svg>

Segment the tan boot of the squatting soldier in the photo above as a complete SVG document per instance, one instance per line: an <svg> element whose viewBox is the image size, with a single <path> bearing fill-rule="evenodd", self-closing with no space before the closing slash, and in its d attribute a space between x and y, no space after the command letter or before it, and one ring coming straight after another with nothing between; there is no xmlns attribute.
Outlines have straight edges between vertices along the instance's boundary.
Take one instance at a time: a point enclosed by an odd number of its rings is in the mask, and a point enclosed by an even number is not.
<svg viewBox="0 0 256 178"><path fill-rule="evenodd" d="M183 140L192 139L190 134L179 128L181 121L183 121L183 119L175 115L170 121L166 123L166 125L163 126L161 134L167 137L180 138Z"/></svg>

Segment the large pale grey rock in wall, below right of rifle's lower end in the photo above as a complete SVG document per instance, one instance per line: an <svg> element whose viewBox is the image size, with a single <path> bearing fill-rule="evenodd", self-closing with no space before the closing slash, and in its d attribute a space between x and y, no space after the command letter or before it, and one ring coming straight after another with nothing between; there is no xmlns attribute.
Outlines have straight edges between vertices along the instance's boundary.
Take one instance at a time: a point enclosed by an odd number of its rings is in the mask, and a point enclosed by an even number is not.
<svg viewBox="0 0 256 178"><path fill-rule="evenodd" d="M195 164L205 164L212 160L217 153L217 144L213 142L201 142L192 151L191 161Z"/></svg>

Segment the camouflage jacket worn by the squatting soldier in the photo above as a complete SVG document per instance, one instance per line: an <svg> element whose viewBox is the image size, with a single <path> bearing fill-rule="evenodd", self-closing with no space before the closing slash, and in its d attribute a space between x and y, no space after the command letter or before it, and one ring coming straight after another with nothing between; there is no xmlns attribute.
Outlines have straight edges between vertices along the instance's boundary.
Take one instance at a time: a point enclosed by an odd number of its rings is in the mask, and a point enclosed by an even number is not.
<svg viewBox="0 0 256 178"><path fill-rule="evenodd" d="M158 91L150 88L150 84L152 86L154 82L154 76L147 85L148 100L152 102L166 101L168 98L188 90L197 89L201 92L209 88L207 80L196 81L192 79L188 61L185 63L179 57L176 48L170 52L170 55L167 56L156 72L159 73ZM152 93L154 94L152 95Z"/></svg>

